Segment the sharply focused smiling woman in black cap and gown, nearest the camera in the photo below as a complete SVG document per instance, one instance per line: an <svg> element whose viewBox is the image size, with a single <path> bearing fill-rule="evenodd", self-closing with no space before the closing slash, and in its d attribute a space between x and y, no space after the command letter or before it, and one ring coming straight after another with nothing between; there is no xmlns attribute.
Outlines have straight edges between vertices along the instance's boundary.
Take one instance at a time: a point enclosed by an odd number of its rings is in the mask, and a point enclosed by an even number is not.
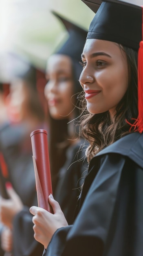
<svg viewBox="0 0 143 256"><path fill-rule="evenodd" d="M96 12L101 1L85 2ZM89 170L73 225L52 195L54 214L30 209L46 256L143 254L143 9L136 4L103 1L90 24L79 79Z"/></svg>

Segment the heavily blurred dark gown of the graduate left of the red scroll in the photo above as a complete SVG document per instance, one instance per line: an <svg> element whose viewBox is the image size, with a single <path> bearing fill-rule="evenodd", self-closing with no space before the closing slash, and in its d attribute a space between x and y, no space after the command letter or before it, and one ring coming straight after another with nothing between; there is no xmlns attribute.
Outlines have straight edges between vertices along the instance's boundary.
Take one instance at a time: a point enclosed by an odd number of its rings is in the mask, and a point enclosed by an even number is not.
<svg viewBox="0 0 143 256"><path fill-rule="evenodd" d="M24 204L13 220L13 256L39 256L43 252L43 246L33 237L33 216L29 212L29 207L37 205L37 193L31 139L26 134L24 124L7 124L0 131L0 150L9 170L7 180ZM3 254L1 249L0 256Z"/></svg>

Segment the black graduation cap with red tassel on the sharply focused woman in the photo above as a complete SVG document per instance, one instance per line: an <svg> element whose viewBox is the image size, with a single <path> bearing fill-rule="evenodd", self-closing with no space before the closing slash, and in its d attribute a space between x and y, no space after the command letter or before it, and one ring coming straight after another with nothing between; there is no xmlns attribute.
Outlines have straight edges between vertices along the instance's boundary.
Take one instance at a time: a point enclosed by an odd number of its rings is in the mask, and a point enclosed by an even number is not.
<svg viewBox="0 0 143 256"><path fill-rule="evenodd" d="M143 0L82 0L96 14L87 39L108 40L138 52L138 118L134 130L143 132Z"/></svg>

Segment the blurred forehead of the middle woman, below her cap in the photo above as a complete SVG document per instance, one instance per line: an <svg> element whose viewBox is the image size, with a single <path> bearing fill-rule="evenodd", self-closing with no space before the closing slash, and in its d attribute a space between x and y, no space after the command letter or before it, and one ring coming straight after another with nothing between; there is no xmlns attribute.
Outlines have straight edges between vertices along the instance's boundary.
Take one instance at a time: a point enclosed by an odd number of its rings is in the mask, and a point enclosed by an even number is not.
<svg viewBox="0 0 143 256"><path fill-rule="evenodd" d="M69 56L63 54L53 54L48 58L46 71L53 72L53 70L69 71L72 67L72 61Z"/></svg>

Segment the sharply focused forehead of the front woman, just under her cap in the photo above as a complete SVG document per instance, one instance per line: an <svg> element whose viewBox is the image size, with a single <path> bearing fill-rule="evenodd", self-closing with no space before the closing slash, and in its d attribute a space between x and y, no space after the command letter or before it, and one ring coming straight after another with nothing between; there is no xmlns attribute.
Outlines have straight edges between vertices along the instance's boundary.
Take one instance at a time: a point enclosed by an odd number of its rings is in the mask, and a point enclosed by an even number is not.
<svg viewBox="0 0 143 256"><path fill-rule="evenodd" d="M123 55L123 51L117 43L99 39L87 39L84 46L83 54L90 55L96 52L105 52L110 56L120 54Z"/></svg>

